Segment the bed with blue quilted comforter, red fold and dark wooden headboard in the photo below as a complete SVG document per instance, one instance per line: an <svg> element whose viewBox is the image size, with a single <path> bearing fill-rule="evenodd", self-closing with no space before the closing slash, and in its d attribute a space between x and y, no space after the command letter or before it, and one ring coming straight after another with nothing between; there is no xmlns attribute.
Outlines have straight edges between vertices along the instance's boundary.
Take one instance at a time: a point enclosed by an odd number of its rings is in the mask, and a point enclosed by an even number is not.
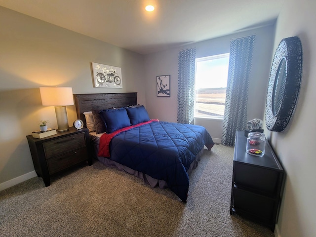
<svg viewBox="0 0 316 237"><path fill-rule="evenodd" d="M137 93L74 98L77 116L89 128L95 158L187 200L188 175L204 146L210 150L214 145L204 127L149 118L145 107L137 104Z"/></svg>

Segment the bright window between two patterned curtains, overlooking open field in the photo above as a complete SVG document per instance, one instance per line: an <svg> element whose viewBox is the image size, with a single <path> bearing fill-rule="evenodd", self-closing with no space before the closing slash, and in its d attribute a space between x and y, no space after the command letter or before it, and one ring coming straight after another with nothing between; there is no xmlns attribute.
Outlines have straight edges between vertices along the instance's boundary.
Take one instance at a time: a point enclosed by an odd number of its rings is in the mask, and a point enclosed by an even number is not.
<svg viewBox="0 0 316 237"><path fill-rule="evenodd" d="M224 117L228 65L229 53L196 59L195 117Z"/></svg>

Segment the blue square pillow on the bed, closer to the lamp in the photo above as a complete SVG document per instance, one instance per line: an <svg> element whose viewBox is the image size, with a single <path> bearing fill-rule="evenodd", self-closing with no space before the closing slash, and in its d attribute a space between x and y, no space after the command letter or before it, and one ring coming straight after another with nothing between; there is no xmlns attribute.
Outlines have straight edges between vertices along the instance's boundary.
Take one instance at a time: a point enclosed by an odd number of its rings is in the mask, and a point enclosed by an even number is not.
<svg viewBox="0 0 316 237"><path fill-rule="evenodd" d="M101 110L99 114L106 123L107 133L112 133L118 129L131 125L125 108Z"/></svg>

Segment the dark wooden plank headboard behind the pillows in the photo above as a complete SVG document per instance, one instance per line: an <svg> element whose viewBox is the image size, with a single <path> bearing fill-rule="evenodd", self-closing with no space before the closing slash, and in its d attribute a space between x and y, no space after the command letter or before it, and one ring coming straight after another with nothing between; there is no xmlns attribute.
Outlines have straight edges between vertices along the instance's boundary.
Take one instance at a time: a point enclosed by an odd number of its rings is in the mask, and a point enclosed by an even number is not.
<svg viewBox="0 0 316 237"><path fill-rule="evenodd" d="M107 93L107 94L74 94L77 118L81 119L86 127L83 112L103 110L111 107L119 108L128 105L137 105L137 92Z"/></svg>

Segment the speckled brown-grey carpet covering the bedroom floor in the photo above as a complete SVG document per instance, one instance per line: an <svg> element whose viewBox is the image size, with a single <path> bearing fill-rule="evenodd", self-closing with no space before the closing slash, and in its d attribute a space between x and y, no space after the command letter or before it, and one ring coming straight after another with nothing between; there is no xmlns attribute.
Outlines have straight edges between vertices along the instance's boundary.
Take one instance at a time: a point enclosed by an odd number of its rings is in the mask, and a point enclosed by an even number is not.
<svg viewBox="0 0 316 237"><path fill-rule="evenodd" d="M231 216L233 147L204 151L187 203L98 161L0 192L1 237L274 237Z"/></svg>

